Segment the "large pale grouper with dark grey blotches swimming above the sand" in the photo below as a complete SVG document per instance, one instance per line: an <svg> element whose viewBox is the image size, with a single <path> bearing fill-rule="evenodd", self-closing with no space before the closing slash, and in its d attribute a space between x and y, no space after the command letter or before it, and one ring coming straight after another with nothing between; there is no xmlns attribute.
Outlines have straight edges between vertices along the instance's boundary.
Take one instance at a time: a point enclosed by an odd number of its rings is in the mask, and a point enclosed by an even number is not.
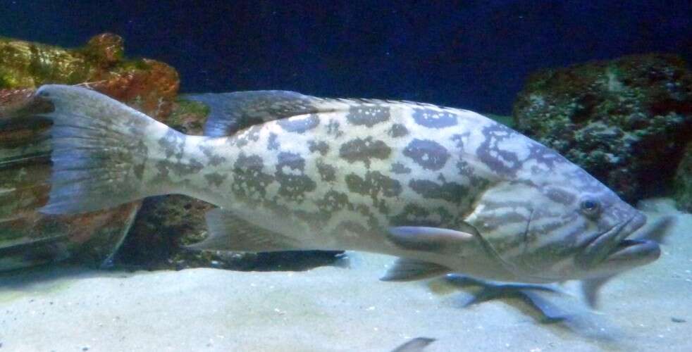
<svg viewBox="0 0 692 352"><path fill-rule="evenodd" d="M483 115L296 92L199 94L204 136L81 87L37 90L54 111L42 212L147 196L212 203L197 249L397 256L387 280L599 279L660 255L628 239L645 216L558 153Z"/></svg>

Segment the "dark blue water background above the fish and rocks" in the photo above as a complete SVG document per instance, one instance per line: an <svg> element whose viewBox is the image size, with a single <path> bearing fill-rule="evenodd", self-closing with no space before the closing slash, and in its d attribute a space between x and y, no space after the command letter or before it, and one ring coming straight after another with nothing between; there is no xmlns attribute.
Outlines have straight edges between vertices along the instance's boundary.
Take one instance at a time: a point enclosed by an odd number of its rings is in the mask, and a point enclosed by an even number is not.
<svg viewBox="0 0 692 352"><path fill-rule="evenodd" d="M650 51L692 58L692 1L0 0L0 35L178 69L183 92L292 89L509 113L534 70Z"/></svg>

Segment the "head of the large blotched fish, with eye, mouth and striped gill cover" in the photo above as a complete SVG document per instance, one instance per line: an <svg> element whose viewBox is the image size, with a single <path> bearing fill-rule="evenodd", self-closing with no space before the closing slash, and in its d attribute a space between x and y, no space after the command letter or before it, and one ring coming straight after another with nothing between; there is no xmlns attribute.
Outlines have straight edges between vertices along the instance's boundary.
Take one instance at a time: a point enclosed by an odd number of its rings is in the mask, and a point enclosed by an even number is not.
<svg viewBox="0 0 692 352"><path fill-rule="evenodd" d="M571 176L576 182L504 182L467 218L517 281L607 277L660 256L656 241L631 238L643 213L583 170Z"/></svg>

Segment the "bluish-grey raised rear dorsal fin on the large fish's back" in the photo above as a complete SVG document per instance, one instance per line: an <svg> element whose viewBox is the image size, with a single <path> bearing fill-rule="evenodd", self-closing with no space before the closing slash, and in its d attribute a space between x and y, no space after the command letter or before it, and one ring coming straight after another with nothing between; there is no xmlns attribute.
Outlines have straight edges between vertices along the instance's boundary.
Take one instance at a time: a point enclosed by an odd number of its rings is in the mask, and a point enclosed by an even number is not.
<svg viewBox="0 0 692 352"><path fill-rule="evenodd" d="M209 106L211 113L204 125L204 135L209 137L230 136L252 125L321 113L326 108L318 106L323 99L282 90L186 94L183 99Z"/></svg>

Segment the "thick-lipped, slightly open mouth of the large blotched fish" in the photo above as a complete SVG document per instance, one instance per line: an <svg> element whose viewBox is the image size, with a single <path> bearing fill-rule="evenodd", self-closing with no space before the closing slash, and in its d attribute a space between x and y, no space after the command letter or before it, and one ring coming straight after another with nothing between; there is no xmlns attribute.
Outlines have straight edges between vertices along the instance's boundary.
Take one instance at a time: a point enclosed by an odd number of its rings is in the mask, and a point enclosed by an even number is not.
<svg viewBox="0 0 692 352"><path fill-rule="evenodd" d="M581 268L591 268L603 260L630 260L641 256L649 258L655 251L659 251L655 241L647 239L626 239L629 235L639 230L646 223L646 217L636 213L631 218L620 222L598 235L586 244L583 251L577 256L577 263Z"/></svg>

